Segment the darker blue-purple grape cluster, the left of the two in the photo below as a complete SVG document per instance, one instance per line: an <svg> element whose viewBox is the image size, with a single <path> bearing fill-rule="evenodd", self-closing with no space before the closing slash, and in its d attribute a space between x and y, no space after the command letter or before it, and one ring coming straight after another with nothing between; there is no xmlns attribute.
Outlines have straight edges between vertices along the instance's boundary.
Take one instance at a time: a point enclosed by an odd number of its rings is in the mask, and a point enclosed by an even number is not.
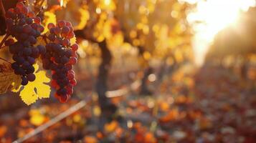
<svg viewBox="0 0 256 143"><path fill-rule="evenodd" d="M16 41L8 39L5 45L9 46L9 51L13 54L14 63L11 67L15 74L22 76L22 85L35 80L33 64L46 51L44 46L35 45L37 37L44 31L40 23L41 19L34 16L34 12L29 11L22 2L6 11L6 34L13 36Z"/></svg>

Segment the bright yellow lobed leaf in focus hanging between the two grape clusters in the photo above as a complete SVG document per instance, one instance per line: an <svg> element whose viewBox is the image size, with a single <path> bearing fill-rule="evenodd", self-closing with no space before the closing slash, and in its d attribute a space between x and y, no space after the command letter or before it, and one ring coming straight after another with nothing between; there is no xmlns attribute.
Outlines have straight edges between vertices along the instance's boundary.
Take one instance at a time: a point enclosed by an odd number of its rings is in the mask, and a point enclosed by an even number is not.
<svg viewBox="0 0 256 143"><path fill-rule="evenodd" d="M50 82L50 79L46 77L45 71L37 71L39 69L38 64L34 64L34 69L35 81L29 82L19 94L22 101L27 105L36 102L37 99L49 98L51 92L50 87L46 84Z"/></svg>

